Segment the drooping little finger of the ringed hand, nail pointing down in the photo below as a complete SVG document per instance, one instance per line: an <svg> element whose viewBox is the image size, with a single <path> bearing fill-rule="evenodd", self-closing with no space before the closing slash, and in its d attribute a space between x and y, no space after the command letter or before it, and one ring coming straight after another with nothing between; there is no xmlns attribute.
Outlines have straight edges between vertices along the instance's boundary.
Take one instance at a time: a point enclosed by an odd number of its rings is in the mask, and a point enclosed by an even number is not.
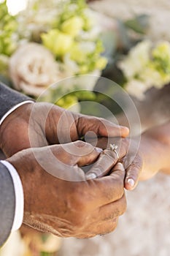
<svg viewBox="0 0 170 256"><path fill-rule="evenodd" d="M131 165L126 169L125 189L133 190L139 181L142 171L142 158L137 155Z"/></svg>

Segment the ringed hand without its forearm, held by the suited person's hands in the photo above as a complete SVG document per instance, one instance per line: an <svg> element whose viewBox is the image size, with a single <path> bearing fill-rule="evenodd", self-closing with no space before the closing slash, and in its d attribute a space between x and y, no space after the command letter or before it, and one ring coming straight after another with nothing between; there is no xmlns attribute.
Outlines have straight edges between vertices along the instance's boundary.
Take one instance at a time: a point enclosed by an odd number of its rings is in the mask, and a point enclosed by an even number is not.
<svg viewBox="0 0 170 256"><path fill-rule="evenodd" d="M93 144L93 140L88 140L88 142ZM113 143L117 145L118 158L115 151L105 149ZM125 189L134 189L138 184L143 167L143 159L137 151L136 140L134 138L99 138L97 146L103 148L104 151L100 154L93 168L86 173L86 177L107 176L117 162L122 162L125 168Z"/></svg>

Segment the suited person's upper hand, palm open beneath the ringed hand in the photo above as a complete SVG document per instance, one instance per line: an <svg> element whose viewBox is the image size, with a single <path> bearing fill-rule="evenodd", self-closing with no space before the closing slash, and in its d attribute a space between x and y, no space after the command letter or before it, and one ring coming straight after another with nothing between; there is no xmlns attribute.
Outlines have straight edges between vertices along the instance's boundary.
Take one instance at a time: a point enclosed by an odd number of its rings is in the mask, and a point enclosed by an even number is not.
<svg viewBox="0 0 170 256"><path fill-rule="evenodd" d="M9 157L24 148L69 143L89 131L99 137L128 135L128 128L103 118L83 116L40 102L20 106L4 120L0 127L0 146Z"/></svg>

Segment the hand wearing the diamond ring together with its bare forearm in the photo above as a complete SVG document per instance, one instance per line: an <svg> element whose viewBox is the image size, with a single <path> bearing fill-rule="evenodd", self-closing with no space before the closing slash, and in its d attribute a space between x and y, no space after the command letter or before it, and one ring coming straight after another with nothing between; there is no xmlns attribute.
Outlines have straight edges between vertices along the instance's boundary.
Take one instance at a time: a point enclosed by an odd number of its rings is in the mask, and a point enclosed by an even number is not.
<svg viewBox="0 0 170 256"><path fill-rule="evenodd" d="M138 145L136 138L101 138L98 140L98 146L108 148L109 143L118 145L117 155L115 151L104 150L104 153L93 168L93 176L104 176L109 173L109 168L117 162L123 162L125 167L125 188L134 189L139 180L146 180L155 176L158 171L170 174L169 156L170 156L170 121L159 127L148 129L141 135ZM129 148L129 143L131 146ZM129 150L128 150L129 148ZM131 157L133 160L131 160ZM98 171L98 164L101 167ZM88 172L90 175L91 171Z"/></svg>

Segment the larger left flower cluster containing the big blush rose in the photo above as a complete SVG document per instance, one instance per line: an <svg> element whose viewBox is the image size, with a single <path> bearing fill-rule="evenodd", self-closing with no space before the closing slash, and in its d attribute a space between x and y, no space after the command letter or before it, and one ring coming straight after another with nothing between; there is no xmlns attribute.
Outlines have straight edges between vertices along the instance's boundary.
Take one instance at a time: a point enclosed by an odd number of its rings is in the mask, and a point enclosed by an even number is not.
<svg viewBox="0 0 170 256"><path fill-rule="evenodd" d="M27 10L16 16L9 14L4 1L0 20L0 73L26 94L39 97L63 78L98 76L107 65L107 59L101 56L100 27L85 0L30 1ZM93 89L96 79L88 89ZM81 81L77 84L77 89L84 89ZM55 86L55 94L58 90ZM73 90L74 84L63 89L65 93ZM53 91L48 100L51 94ZM58 103L66 107L78 99L78 94L69 95L69 100L65 97Z"/></svg>

